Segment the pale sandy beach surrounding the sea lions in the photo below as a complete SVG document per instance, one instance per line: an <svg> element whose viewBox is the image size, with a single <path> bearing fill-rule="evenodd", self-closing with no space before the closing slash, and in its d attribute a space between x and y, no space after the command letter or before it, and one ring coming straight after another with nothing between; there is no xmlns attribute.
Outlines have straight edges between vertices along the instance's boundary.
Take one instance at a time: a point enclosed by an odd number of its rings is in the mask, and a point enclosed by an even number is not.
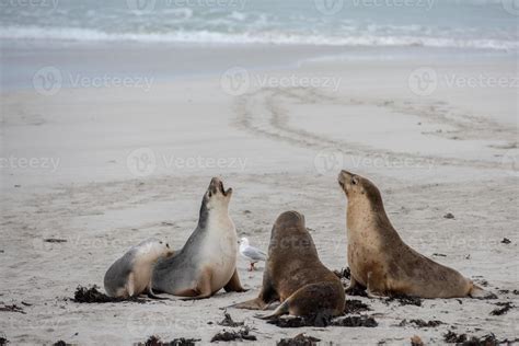
<svg viewBox="0 0 519 346"><path fill-rule="evenodd" d="M233 57L246 60L239 51ZM222 309L255 297L263 275L263 264L250 273L242 257L244 293L194 302L71 298L80 285L102 288L107 267L147 238L182 247L212 176L234 191L230 215L239 237L266 249L276 217L299 210L322 262L345 268L342 169L376 182L405 242L498 298L417 307L348 296L369 305L372 328L280 328L254 311L228 309L257 337L244 343L273 345L305 333L334 345L408 345L414 335L435 345L449 331L517 339L517 308L491 314L498 302L519 305L514 60L307 59L276 69L232 62L148 84L134 77L126 86L115 74L61 69L62 80L84 77L83 83L53 90L36 81L2 91L0 302L23 310L0 311L7 339L128 345L157 335L208 344L223 328L237 330L217 324ZM419 85L424 68L432 82ZM401 326L404 319L442 324Z"/></svg>

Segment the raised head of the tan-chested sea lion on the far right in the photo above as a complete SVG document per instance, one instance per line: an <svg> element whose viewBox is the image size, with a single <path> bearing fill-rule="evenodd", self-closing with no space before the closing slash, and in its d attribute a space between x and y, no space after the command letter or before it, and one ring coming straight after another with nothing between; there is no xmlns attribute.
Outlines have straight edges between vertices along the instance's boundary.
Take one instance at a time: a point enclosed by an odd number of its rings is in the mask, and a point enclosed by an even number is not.
<svg viewBox="0 0 519 346"><path fill-rule="evenodd" d="M360 175L343 170L338 174L338 185L343 188L348 200L367 198L374 205L382 201L382 197L377 186L374 186L370 180Z"/></svg>

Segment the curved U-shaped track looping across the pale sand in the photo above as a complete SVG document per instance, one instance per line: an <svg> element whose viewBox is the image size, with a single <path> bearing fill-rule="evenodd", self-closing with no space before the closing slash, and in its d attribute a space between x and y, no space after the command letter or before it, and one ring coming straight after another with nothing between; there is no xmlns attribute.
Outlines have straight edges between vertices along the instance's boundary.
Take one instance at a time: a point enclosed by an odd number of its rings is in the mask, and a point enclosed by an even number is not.
<svg viewBox="0 0 519 346"><path fill-rule="evenodd" d="M345 155L366 158L385 157L389 160L428 161L437 165L471 166L478 169L506 170L500 162L447 158L438 155L395 152L383 148L373 148L364 143L326 138L289 125L290 113L287 103L321 104L348 106L376 106L390 113L416 116L426 122L449 126L453 130L446 132L423 132L426 136L451 137L455 140L487 139L505 140L517 146L514 130L492 122L491 119L466 115L446 102L413 103L411 101L388 101L381 99L341 99L326 95L315 89L264 88L237 99L235 117L232 125L251 131L256 136L267 137L277 141L289 142L297 147L312 150L334 150ZM496 148L494 148L496 149ZM505 150L505 149L504 149Z"/></svg>

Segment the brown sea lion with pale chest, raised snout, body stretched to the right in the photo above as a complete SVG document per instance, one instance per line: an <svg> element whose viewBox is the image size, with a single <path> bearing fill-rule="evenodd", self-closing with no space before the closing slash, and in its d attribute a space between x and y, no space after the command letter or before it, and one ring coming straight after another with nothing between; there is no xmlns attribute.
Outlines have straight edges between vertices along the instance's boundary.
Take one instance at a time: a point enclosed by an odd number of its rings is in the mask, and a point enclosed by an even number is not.
<svg viewBox="0 0 519 346"><path fill-rule="evenodd" d="M457 270L420 255L405 244L385 214L379 189L369 180L342 171L338 184L348 200L347 252L351 282L347 291L361 286L370 296L493 296Z"/></svg>

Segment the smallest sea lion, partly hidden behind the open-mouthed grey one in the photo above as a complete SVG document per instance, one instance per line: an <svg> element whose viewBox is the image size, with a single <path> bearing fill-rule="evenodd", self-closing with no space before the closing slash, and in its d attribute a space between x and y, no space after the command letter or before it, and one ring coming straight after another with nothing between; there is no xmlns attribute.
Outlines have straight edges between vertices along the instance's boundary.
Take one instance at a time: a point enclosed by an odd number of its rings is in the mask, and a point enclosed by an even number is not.
<svg viewBox="0 0 519 346"><path fill-rule="evenodd" d="M173 254L170 245L149 239L131 247L123 257L115 261L104 276L106 295L114 298L136 297L145 291L148 297L161 299L151 289L153 265Z"/></svg>

